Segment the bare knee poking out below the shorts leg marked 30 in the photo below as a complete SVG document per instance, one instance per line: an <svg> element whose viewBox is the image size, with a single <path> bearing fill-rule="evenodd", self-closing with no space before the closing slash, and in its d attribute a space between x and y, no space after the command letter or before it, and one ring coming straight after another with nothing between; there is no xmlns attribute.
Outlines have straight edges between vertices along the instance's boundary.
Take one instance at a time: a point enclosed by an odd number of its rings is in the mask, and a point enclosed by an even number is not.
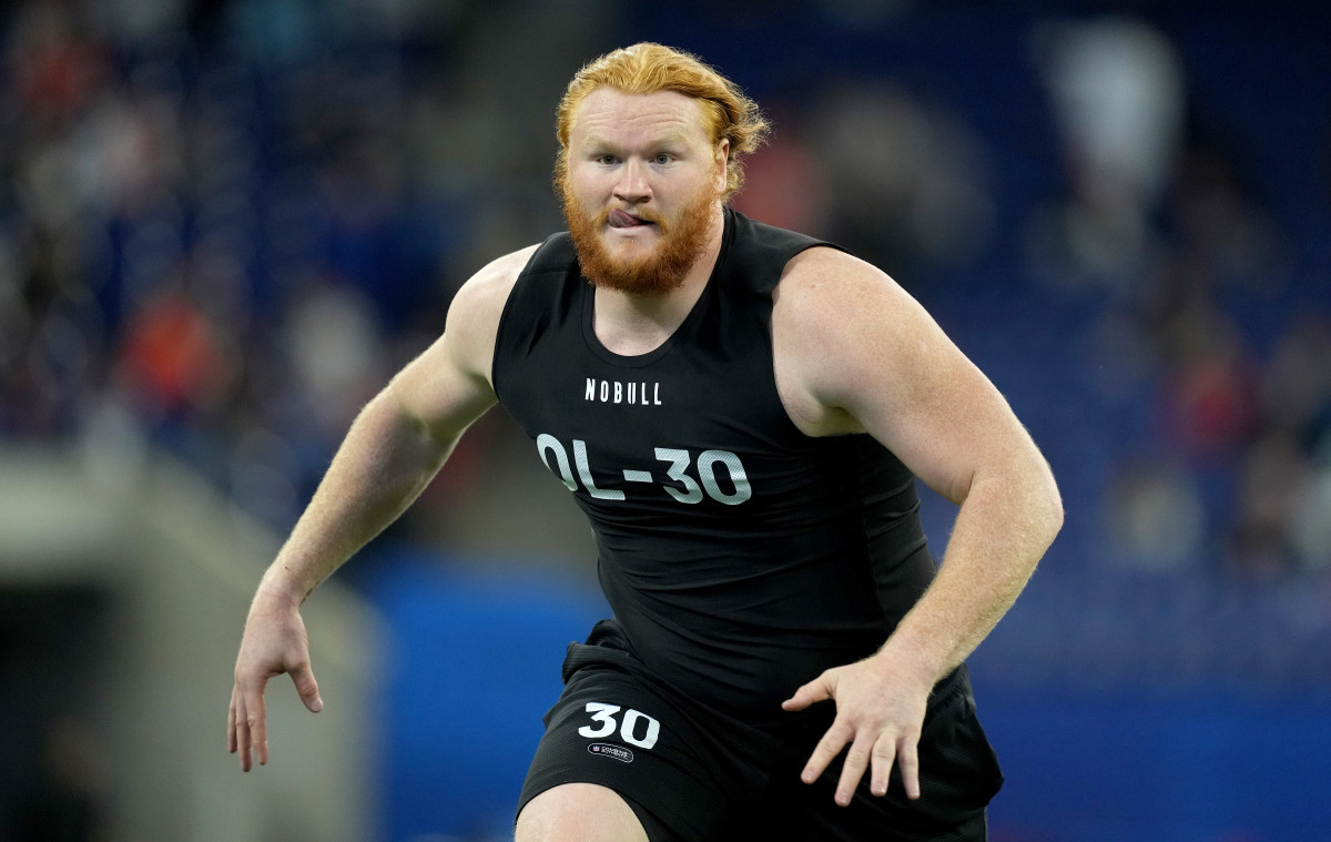
<svg viewBox="0 0 1331 842"><path fill-rule="evenodd" d="M596 783L563 783L518 814L516 842L647 842L634 809Z"/></svg>

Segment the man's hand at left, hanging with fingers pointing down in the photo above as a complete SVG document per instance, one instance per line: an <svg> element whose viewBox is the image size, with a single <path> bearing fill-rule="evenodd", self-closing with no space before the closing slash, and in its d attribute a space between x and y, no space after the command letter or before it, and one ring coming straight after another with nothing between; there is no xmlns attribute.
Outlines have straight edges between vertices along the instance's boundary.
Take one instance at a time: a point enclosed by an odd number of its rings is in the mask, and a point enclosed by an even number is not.
<svg viewBox="0 0 1331 842"><path fill-rule="evenodd" d="M268 721L264 687L274 675L289 673L295 691L313 713L323 710L319 685L310 669L310 645L297 608L256 598L245 621L241 651L236 657L236 686L226 713L226 750L241 754L241 770L268 763Z"/></svg>

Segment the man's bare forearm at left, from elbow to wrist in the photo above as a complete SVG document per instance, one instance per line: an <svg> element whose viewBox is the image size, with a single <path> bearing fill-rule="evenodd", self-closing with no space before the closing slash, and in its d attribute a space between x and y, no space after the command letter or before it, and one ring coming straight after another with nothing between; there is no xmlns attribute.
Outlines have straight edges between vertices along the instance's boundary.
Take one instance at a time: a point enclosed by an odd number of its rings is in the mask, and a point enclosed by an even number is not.
<svg viewBox="0 0 1331 842"><path fill-rule="evenodd" d="M386 389L361 410L313 500L269 566L256 601L299 605L407 509L453 441L430 437Z"/></svg>

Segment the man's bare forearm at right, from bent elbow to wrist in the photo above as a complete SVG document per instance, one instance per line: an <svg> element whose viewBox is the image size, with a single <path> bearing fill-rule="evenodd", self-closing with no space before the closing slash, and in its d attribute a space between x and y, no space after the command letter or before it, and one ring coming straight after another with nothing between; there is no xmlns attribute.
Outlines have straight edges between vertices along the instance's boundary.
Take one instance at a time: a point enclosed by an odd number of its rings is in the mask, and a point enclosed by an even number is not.
<svg viewBox="0 0 1331 842"><path fill-rule="evenodd" d="M933 584L884 645L930 683L960 665L1016 602L1062 525L1053 477L980 480L961 504Z"/></svg>

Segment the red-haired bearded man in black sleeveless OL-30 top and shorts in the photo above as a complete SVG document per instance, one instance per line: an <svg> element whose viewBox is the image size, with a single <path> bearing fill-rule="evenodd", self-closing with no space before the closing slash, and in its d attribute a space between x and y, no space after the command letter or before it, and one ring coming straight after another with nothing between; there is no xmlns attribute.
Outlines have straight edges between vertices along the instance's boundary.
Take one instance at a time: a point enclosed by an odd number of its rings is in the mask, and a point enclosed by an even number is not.
<svg viewBox="0 0 1331 842"><path fill-rule="evenodd" d="M258 588L228 727L244 769L268 758L268 678L322 706L301 602L498 401L590 518L615 612L570 646L519 842L985 838L1002 778L962 661L1058 532L1058 492L888 276L725 208L764 129L656 44L575 76L570 233L463 285ZM912 474L960 504L941 568Z"/></svg>

